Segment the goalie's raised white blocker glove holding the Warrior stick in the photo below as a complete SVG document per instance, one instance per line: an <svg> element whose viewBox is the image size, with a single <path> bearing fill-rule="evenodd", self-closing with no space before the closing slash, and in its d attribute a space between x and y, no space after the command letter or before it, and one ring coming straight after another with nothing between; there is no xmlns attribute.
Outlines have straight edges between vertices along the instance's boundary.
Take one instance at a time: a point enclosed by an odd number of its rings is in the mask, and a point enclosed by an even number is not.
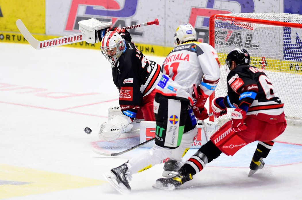
<svg viewBox="0 0 302 200"><path fill-rule="evenodd" d="M85 34L85 41L91 44L100 42L97 31L112 26L112 22L103 23L96 19L79 21L79 30Z"/></svg>

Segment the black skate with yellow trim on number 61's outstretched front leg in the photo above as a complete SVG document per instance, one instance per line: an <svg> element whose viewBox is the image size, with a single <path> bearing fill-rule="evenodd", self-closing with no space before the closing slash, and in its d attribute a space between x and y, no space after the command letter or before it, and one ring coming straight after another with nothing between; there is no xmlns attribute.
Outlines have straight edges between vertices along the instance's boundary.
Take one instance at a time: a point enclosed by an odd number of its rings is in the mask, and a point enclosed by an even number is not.
<svg viewBox="0 0 302 200"><path fill-rule="evenodd" d="M191 173L183 173L181 170L179 174L173 178L160 178L156 180L153 185L154 188L172 191L185 182L192 180L193 175Z"/></svg>

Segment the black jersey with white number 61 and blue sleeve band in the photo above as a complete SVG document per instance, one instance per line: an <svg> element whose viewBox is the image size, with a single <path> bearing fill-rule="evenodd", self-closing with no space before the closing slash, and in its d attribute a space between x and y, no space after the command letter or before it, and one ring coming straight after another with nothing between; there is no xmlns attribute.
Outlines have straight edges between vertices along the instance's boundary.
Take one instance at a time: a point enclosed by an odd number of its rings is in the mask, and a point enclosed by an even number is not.
<svg viewBox="0 0 302 200"><path fill-rule="evenodd" d="M223 101L227 107L249 106L247 115L280 115L284 112L277 91L261 69L254 66L237 66L227 76L227 87L228 96Z"/></svg>

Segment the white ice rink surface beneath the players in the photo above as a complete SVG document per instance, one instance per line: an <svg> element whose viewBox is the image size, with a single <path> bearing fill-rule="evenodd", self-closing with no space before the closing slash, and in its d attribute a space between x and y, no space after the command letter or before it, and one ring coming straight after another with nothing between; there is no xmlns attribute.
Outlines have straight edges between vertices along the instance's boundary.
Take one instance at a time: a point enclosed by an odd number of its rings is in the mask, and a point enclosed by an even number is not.
<svg viewBox="0 0 302 200"><path fill-rule="evenodd" d="M220 156L176 191L152 188L160 164L134 174L132 192L120 195L102 174L147 149L116 157L92 151L119 152L138 143L137 134L107 146L98 139L117 97L100 51L0 43L0 199L302 199L299 127L277 138L265 167L252 177L247 174L256 143L233 157ZM85 134L85 127L92 133Z"/></svg>

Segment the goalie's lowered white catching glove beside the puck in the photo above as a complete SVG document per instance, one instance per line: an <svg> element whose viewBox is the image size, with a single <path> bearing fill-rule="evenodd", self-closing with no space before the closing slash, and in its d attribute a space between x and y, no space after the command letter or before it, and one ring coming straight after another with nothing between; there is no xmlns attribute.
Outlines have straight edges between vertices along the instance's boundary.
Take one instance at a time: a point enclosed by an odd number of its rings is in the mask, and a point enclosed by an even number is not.
<svg viewBox="0 0 302 200"><path fill-rule="evenodd" d="M131 130L133 127L133 125L130 124L131 122L130 117L120 113L120 115L113 117L112 119L108 120L108 122L104 122L101 125L98 137L101 140L106 141L116 140L122 133Z"/></svg>

